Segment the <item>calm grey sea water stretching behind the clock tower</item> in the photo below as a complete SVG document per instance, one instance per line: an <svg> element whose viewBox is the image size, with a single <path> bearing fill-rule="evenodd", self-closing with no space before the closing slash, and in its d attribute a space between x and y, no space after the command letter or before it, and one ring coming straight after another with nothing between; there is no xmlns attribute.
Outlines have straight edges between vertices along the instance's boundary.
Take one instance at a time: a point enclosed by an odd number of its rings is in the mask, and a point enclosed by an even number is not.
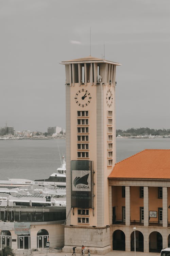
<svg viewBox="0 0 170 256"><path fill-rule="evenodd" d="M116 161L146 148L170 149L170 138L116 139ZM0 180L48 178L61 166L65 152L65 139L0 140Z"/></svg>

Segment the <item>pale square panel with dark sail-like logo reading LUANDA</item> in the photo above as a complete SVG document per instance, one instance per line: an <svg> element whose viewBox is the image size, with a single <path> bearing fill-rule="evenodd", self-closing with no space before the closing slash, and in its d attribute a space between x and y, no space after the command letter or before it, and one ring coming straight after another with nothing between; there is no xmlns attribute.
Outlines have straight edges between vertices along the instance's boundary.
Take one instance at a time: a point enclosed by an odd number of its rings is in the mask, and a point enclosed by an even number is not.
<svg viewBox="0 0 170 256"><path fill-rule="evenodd" d="M72 190L73 191L91 191L91 173L90 171L72 171Z"/></svg>

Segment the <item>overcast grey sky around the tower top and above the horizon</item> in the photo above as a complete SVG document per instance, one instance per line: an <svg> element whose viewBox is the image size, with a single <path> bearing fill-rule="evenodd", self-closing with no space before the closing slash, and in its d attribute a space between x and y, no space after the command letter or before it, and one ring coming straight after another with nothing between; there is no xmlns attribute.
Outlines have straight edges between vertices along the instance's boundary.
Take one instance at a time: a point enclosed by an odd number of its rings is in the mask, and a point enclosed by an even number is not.
<svg viewBox="0 0 170 256"><path fill-rule="evenodd" d="M119 62L116 128L170 128L169 0L0 0L0 126L65 128L65 68Z"/></svg>

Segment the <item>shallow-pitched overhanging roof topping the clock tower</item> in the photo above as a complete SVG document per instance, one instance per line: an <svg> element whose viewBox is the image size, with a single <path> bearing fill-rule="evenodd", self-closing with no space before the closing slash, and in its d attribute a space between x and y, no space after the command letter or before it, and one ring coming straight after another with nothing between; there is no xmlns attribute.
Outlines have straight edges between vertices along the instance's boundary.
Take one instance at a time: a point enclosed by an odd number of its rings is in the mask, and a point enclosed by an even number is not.
<svg viewBox="0 0 170 256"><path fill-rule="evenodd" d="M71 64L71 63L91 63L91 62L97 62L97 63L111 63L117 66L120 66L120 63L114 62L114 61L109 61L109 60L105 60L105 59L99 59L96 57L92 57L92 56L88 56L88 57L84 57L84 58L80 58L80 59L72 59L72 60L66 60L66 61L62 61L60 62L60 64Z"/></svg>

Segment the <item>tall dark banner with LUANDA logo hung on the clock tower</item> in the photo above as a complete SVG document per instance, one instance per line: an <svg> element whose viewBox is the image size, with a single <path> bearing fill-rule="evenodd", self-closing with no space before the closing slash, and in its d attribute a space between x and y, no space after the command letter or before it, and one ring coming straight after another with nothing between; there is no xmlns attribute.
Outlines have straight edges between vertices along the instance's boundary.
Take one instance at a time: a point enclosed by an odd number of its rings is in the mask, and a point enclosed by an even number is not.
<svg viewBox="0 0 170 256"><path fill-rule="evenodd" d="M92 208L92 161L71 161L71 207Z"/></svg>

